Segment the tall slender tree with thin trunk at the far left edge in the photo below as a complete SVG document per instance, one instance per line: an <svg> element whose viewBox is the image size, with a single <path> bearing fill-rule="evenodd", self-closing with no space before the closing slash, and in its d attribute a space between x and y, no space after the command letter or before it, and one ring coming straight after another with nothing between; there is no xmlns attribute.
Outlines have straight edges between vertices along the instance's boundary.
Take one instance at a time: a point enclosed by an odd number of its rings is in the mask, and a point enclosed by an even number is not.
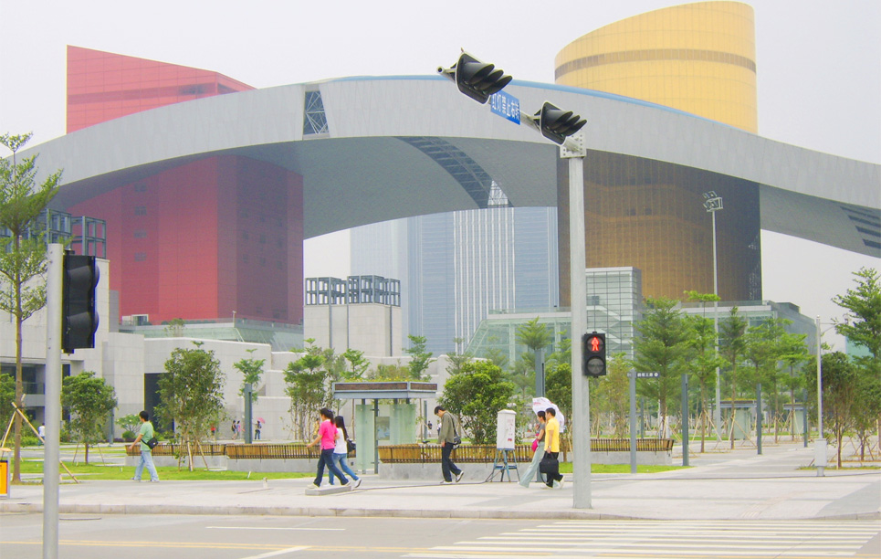
<svg viewBox="0 0 881 559"><path fill-rule="evenodd" d="M12 152L0 158L0 311L16 321L16 406L24 404L22 385L22 323L46 304L46 239L42 234L26 236L29 227L58 194L61 171L47 176L37 185L37 155L19 161L18 151L31 134L0 135L0 144ZM8 284L8 288L3 285ZM21 483L21 417L16 415L12 482Z"/></svg>

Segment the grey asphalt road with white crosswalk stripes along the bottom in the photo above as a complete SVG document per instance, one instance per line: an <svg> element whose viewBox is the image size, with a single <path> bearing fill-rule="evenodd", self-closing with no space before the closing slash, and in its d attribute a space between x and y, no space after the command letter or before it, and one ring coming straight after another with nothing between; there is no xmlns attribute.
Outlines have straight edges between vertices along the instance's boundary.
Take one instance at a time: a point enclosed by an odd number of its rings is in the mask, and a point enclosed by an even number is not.
<svg viewBox="0 0 881 559"><path fill-rule="evenodd" d="M878 522L503 521L62 514L65 559L881 557ZM0 557L42 557L42 515L0 516Z"/></svg>

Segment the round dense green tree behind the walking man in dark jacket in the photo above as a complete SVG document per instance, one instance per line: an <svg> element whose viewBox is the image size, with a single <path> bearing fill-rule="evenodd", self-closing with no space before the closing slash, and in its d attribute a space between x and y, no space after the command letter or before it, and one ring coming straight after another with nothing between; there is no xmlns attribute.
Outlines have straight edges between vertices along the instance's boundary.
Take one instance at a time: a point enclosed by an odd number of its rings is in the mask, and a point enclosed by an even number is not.
<svg viewBox="0 0 881 559"><path fill-rule="evenodd" d="M496 416L509 406L511 396L514 385L504 380L501 369L487 361L475 361L446 379L438 403L459 416L472 442L486 445L495 438Z"/></svg>

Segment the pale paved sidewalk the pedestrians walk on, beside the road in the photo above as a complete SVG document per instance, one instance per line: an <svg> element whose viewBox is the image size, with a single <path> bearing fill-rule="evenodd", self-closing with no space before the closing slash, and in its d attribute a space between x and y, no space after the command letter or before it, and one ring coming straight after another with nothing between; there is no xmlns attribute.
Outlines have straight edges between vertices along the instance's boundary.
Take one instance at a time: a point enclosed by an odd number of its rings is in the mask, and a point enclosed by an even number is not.
<svg viewBox="0 0 881 559"><path fill-rule="evenodd" d="M434 518L654 520L881 519L881 471L798 468L813 448L766 445L707 453L693 468L660 474L592 476L591 509L572 508L572 476L561 490L537 483L440 486L363 476L359 490L307 496L309 478L262 481L84 480L62 484L60 512L81 514L271 514ZM467 468L467 464L463 464ZM255 474L258 476L259 474ZM438 466L438 478L440 467ZM41 512L42 486L13 486L0 512Z"/></svg>

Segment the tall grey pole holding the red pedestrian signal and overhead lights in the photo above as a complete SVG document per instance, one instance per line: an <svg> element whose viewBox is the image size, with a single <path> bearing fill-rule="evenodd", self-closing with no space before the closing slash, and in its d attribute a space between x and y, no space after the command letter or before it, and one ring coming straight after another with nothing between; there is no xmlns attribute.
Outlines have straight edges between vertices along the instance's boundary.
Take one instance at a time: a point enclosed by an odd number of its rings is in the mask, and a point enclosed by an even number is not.
<svg viewBox="0 0 881 559"><path fill-rule="evenodd" d="M582 142L579 142L581 140ZM582 374L582 334L587 332L587 268L584 256L584 148L583 136L561 147L569 159L569 261L572 305L572 506L591 508L591 395Z"/></svg>

